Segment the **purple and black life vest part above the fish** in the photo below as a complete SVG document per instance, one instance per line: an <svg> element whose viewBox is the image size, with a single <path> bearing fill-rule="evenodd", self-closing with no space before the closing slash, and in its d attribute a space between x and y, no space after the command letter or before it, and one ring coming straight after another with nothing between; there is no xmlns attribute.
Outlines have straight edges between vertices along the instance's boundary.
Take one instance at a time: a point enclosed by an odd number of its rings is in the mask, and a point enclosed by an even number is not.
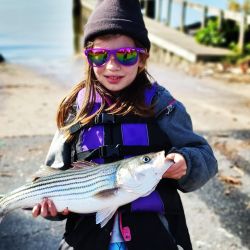
<svg viewBox="0 0 250 250"><path fill-rule="evenodd" d="M77 96L77 107L80 109L84 89ZM156 92L156 84L145 91L145 103L150 105ZM100 108L102 97L96 93L91 113ZM165 133L157 126L156 119L135 115L111 115L101 113L89 126L76 126L80 129L76 142L75 160L92 160L96 163L112 162L126 157L167 150L170 142Z"/></svg>

